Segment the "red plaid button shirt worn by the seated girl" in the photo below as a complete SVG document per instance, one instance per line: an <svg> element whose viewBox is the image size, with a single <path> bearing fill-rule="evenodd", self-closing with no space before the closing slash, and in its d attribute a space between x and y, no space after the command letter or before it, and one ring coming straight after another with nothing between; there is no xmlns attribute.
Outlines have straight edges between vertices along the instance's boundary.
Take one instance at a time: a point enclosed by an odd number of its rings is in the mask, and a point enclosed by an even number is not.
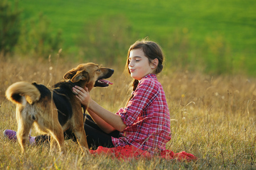
<svg viewBox="0 0 256 170"><path fill-rule="evenodd" d="M162 85L155 74L144 76L134 97L118 114L127 127L113 138L114 146L132 145L154 152L166 150L171 139L170 113Z"/></svg>

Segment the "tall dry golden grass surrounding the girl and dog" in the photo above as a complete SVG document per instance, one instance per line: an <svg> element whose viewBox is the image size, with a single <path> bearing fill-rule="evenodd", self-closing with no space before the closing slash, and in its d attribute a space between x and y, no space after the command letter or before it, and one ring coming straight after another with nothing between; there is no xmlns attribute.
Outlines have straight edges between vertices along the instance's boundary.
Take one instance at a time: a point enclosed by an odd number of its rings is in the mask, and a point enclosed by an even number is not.
<svg viewBox="0 0 256 170"><path fill-rule="evenodd" d="M16 130L15 105L5 99L10 84L26 80L47 86L58 82L78 63L62 59L13 59L0 63L0 131ZM123 64L125 65L125 63ZM131 79L123 67L115 69L108 88L95 88L94 100L112 112L123 107L130 95ZM172 71L170 71L172 70ZM65 141L67 154L49 154L49 146L28 147L21 154L18 143L0 134L1 169L254 169L256 80L246 76L212 76L165 68L158 76L171 114L172 139L167 149L186 151L199 160L191 163L161 159L122 162L107 156L81 156L79 146ZM127 92L128 91L128 92ZM32 135L37 133L32 130Z"/></svg>

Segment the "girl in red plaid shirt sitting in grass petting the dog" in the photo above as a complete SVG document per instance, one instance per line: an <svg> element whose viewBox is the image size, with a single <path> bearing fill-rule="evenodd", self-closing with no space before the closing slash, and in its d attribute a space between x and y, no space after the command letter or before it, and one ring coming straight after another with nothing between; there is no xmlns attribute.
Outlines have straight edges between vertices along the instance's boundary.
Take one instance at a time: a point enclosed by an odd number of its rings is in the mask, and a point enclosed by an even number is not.
<svg viewBox="0 0 256 170"><path fill-rule="evenodd" d="M115 114L92 100L87 88L73 87L90 114L84 124L89 147L132 145L151 154L166 150L171 139L170 113L163 87L156 78L163 69L163 60L162 49L155 42L141 40L130 46L126 69L134 78L133 92L126 107ZM15 141L15 131L5 130L4 134ZM65 136L75 137L68 131ZM39 135L31 137L30 142L47 139L46 135Z"/></svg>

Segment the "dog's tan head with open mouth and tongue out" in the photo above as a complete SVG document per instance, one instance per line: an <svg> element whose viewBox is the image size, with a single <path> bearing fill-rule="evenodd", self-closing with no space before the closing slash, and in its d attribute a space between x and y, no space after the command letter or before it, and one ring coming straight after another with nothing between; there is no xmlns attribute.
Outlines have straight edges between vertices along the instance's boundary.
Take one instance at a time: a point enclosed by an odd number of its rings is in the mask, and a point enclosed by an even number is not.
<svg viewBox="0 0 256 170"><path fill-rule="evenodd" d="M113 84L108 80L104 80L110 78L113 73L113 69L100 67L95 63L89 62L82 63L76 68L69 70L63 78L71 80L73 83L80 82L81 87L86 86L90 91L93 87L108 87L109 84Z"/></svg>

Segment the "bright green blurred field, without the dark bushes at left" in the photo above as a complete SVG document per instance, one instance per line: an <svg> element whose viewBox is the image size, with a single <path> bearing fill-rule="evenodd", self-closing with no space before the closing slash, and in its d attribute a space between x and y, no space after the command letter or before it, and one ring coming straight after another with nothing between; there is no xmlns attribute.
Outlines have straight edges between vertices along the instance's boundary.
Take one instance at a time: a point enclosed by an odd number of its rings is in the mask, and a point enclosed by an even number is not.
<svg viewBox="0 0 256 170"><path fill-rule="evenodd" d="M125 41L117 54L123 56L130 44L148 36L162 45L175 66L256 74L256 1L24 0L19 6L23 20L46 16L53 33L62 31L63 51L78 58L84 53L112 57L92 49Z"/></svg>

